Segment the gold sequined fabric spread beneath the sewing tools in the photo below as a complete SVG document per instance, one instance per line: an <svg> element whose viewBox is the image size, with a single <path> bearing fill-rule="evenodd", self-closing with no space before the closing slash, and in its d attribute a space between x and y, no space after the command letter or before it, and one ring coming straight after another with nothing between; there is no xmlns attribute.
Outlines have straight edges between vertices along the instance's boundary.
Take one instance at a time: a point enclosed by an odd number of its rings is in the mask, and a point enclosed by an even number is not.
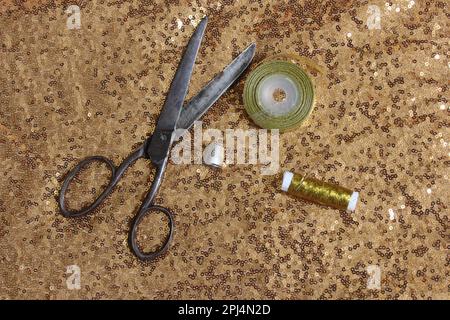
<svg viewBox="0 0 450 320"><path fill-rule="evenodd" d="M69 5L80 29L67 27ZM446 1L11 0L0 12L1 298L449 298ZM176 213L174 242L141 263L126 238L145 160L87 218L63 218L56 195L79 159L119 164L152 131L205 14L190 93L251 42L256 62L312 59L325 70L312 74L316 106L281 135L280 173L310 170L361 202L347 214L296 200L259 166L172 164L158 203ZM244 80L205 127L256 128ZM80 289L67 285L71 265Z"/></svg>

